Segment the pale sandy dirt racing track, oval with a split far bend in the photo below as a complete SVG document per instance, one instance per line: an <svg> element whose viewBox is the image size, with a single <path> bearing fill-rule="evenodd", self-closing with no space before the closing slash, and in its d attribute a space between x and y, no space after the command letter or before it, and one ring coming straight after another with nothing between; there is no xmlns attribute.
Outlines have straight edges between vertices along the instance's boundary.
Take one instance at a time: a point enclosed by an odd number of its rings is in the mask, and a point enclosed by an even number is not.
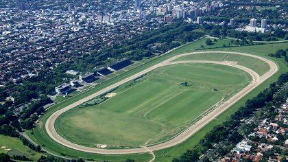
<svg viewBox="0 0 288 162"><path fill-rule="evenodd" d="M252 71L251 69L248 69L247 67L237 65L235 62L228 62L228 61L219 62L219 61L209 61L209 60L183 60L183 61L173 62L173 60L176 60L177 58L180 58L182 56L188 56L188 55L193 55L193 54L207 54L207 53L237 54L237 55L242 55L242 56L250 56L252 58L258 58L266 62L269 65L270 69L263 76L259 76L259 74L256 73L255 71ZM250 76L252 76L252 81L250 82L250 84L248 84L248 86L245 86L245 88L243 88L237 94L230 97L229 100L226 100L225 102L221 103L219 106L217 106L217 108L214 108L213 111L211 111L210 113L202 117L193 125L189 126L186 130L183 130L180 134L171 138L169 141L164 141L163 143L158 143L154 146L143 146L143 148L129 148L129 149L117 149L117 150L89 148L86 146L80 146L78 144L72 143L71 141L68 141L67 139L64 139L63 137L60 137L60 135L58 135L58 132L56 132L56 128L55 128L56 119L58 119L58 117L60 117L60 115L62 115L63 113L71 110L71 108L75 108L75 106L78 106L84 102L87 102L88 100L91 100L94 97L97 97L103 93L106 93L107 91L110 91L116 88L117 86L124 84L125 82L129 82L130 80L138 78L139 76L142 76L143 74L148 73L149 71L157 69L158 67L163 67L167 65L176 65L176 64L186 64L186 63L204 63L204 64L216 64L216 65L226 65L230 67L235 67L235 68L242 69L243 71L246 71L247 73L249 73ZM163 62L160 62L157 65L149 67L148 69L145 69L139 73L136 73L133 76L125 78L121 80L120 82L117 82L104 89L101 89L100 91L97 91L96 93L93 93L92 95L89 95L88 97L85 97L82 100L78 100L77 102L74 102L73 104L70 104L69 106L66 106L56 111L47 119L47 122L45 123L45 129L49 137L51 137L51 139L53 139L54 141L60 143L62 146L66 146L74 150L80 150L82 152L91 152L91 153L97 153L97 154L134 154L134 153L153 152L155 150L162 150L164 148L176 146L179 143L182 143L183 141L189 139L189 137L195 134L195 132L197 132L206 124L211 122L213 119L215 119L215 117L217 117L218 115L226 111L228 108L230 108L230 106L232 106L237 101L239 101L243 96L250 93L253 89L259 86L259 84L267 80L269 77L273 76L274 73L276 73L277 71L278 71L278 66L276 65L276 63L272 62L271 60L268 60L267 58L254 56L252 54L244 54L240 52L230 52L230 51L198 51L198 52L192 52L192 53L187 53L187 54L180 54L178 56L173 56L172 58L169 58Z"/></svg>

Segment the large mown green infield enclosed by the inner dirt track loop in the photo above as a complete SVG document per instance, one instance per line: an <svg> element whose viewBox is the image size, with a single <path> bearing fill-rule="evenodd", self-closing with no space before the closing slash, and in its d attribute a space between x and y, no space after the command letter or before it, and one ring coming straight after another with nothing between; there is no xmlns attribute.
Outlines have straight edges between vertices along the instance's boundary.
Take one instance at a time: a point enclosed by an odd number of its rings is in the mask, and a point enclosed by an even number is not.
<svg viewBox="0 0 288 162"><path fill-rule="evenodd" d="M56 130L69 141L90 147L144 146L176 135L250 79L245 71L223 65L169 65L123 85L106 102L68 111L56 122Z"/></svg>

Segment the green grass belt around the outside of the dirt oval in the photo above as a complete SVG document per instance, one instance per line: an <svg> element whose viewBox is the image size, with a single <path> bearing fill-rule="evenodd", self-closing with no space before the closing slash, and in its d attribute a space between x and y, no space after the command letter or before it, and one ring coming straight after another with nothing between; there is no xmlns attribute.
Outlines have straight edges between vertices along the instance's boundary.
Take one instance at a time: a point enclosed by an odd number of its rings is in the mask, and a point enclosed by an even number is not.
<svg viewBox="0 0 288 162"><path fill-rule="evenodd" d="M69 100L64 100L63 102L59 102L58 104L55 104L51 106L48 111L40 117L40 122L45 123L47 120L47 117L51 115L51 113L57 111L60 108L63 108L64 106L67 106L77 100L80 100L83 97L86 97L87 95L91 95L92 93L95 93L95 91L99 91L99 89L103 89L106 86L109 86L110 84L113 84L115 82L118 82L119 80L123 80L123 78L127 78L128 76L132 76L132 74L137 73L139 71L142 71L143 69L147 69L147 67L151 67L152 65L156 65L158 62L162 62L163 60L167 60L167 58L171 58L172 56L176 56L178 54L184 54L187 52L195 51L195 49L199 48L201 45L205 44L206 38L202 38L200 40L197 40L193 43L189 43L187 45L184 45L183 47L176 49L174 51L171 51L169 54L158 57L156 59L149 59L149 62L145 63L144 65L141 65L140 67L137 67L136 69L132 69L130 71L127 71L119 76L117 78L113 78L112 80L107 80L106 82L103 82L102 84L99 84L92 89L89 89L88 91L85 91L84 93L79 93L73 97L70 97ZM167 148L165 150L159 150L156 151L156 161L171 161L173 157L178 157L180 154L182 154L187 149L194 148L197 146L197 143L199 143L200 139L204 137L205 133L211 130L213 126L216 126L218 124L221 124L221 122L224 122L227 117L229 117L232 113L237 111L237 109L245 104L245 101L250 99L251 97L254 97L259 92L263 91L263 89L267 88L271 82L276 81L278 76L280 76L281 73L284 73L287 71L287 65L285 64L285 61L283 58L270 58L268 56L269 53L274 53L278 49L285 49L288 46L288 43L275 43L275 44L268 44L268 45L254 45L254 46L245 46L245 47L231 47L231 48L218 48L218 49L209 49L209 50L221 50L221 51L240 51L245 52L248 54L255 54L258 56L262 56L265 58L269 58L271 60L274 60L278 64L279 71L272 76L272 78L269 78L269 80L265 81L263 84L257 87L257 89L254 89L252 93L249 93L245 97L243 97L239 102L237 102L235 105L233 105L231 108L228 109L228 111L221 114L217 119L215 119L213 122L202 128L200 131L198 131L195 135L190 137L187 141L184 143L179 144L178 146L174 146L171 148ZM96 161L125 161L125 159L135 159L136 161L148 161L149 159L152 159L152 155L150 154L131 154L131 155L102 155L102 154L91 154L87 152L80 152L77 150L73 150L70 148L66 148L64 146L61 146L60 144L53 141L53 139L50 139L50 137L45 132L45 126L39 124L36 126L36 128L33 129L34 134L31 134L31 131L27 131L27 135L29 135L36 143L38 143L40 146L43 146L43 148L49 150L50 152L56 153L56 154L66 154L65 157L81 157L84 159L95 159ZM165 153L164 153L165 152Z"/></svg>

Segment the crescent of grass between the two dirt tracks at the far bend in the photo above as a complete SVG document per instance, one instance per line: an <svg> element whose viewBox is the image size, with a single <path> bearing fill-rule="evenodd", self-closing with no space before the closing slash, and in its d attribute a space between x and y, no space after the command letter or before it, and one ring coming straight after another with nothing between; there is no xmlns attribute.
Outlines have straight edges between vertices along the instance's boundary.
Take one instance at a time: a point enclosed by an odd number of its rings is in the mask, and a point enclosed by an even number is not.
<svg viewBox="0 0 288 162"><path fill-rule="evenodd" d="M269 71L269 65L263 60L258 58L251 58L248 56L239 56L235 54L195 54L190 56L184 56L177 60L216 60L216 61L233 61L237 62L238 65L248 67L256 73L262 76L264 73ZM177 61L176 60L176 61Z"/></svg>

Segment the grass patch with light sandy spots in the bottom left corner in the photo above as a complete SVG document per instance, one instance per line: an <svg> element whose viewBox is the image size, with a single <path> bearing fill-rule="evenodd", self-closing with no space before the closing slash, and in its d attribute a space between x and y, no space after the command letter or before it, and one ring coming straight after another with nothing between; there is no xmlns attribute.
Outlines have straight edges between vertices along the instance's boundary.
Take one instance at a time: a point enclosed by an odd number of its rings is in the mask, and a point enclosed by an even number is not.
<svg viewBox="0 0 288 162"><path fill-rule="evenodd" d="M22 154L33 161L37 161L41 155L44 155L24 146L20 139L4 135L0 135L0 152L5 154L8 152L10 154Z"/></svg>

